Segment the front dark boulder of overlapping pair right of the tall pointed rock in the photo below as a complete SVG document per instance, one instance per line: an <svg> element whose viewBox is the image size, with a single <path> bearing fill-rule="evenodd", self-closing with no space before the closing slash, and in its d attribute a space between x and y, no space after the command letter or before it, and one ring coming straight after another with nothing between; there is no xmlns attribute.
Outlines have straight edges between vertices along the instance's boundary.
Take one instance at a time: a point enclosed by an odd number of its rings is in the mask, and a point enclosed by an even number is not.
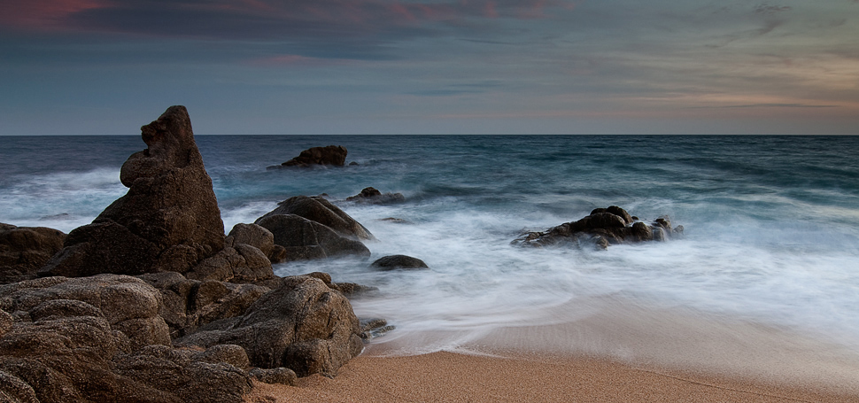
<svg viewBox="0 0 859 403"><path fill-rule="evenodd" d="M257 223L275 235L275 244L284 248L287 261L370 255L367 246L360 241L295 214L268 215Z"/></svg>

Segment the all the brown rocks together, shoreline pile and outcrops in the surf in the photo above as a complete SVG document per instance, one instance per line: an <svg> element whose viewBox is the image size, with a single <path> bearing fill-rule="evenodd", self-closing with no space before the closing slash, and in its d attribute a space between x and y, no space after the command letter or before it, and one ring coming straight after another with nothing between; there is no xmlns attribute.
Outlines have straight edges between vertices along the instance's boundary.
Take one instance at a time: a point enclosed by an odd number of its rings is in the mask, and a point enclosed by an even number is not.
<svg viewBox="0 0 859 403"><path fill-rule="evenodd" d="M353 312L349 298L373 288L272 267L369 257L367 228L324 197L297 196L225 234L187 110L172 106L141 132L146 150L120 169L128 193L91 224L67 235L0 224L4 401L239 402L252 380L337 376L392 329ZM314 148L283 167L343 166L345 153ZM404 200L366 188L345 201ZM607 247L681 233L667 217L648 224L611 206L514 244ZM404 255L370 267L429 269Z"/></svg>

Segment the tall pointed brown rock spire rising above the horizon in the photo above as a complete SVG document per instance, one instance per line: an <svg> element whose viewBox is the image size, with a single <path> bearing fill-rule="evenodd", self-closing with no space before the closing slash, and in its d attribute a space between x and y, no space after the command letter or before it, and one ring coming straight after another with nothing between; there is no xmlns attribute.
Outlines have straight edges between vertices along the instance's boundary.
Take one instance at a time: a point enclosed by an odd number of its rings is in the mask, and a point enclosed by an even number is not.
<svg viewBox="0 0 859 403"><path fill-rule="evenodd" d="M72 230L39 275L184 273L224 247L221 210L184 106L141 128L148 148L120 170L128 194Z"/></svg>

